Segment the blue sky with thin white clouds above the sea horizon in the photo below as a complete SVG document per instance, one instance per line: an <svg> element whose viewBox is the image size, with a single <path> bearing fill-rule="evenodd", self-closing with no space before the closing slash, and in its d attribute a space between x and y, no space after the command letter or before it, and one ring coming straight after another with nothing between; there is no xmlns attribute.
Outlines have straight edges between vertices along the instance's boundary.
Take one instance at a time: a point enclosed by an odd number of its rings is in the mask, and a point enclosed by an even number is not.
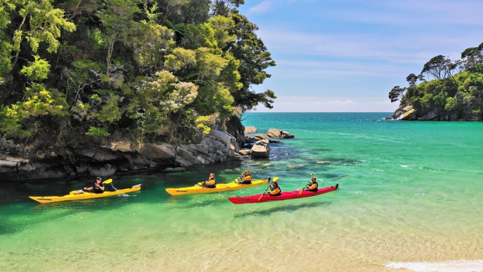
<svg viewBox="0 0 483 272"><path fill-rule="evenodd" d="M245 0L239 10L277 63L253 86L277 96L259 112L391 112L388 92L408 74L483 42L477 0Z"/></svg>

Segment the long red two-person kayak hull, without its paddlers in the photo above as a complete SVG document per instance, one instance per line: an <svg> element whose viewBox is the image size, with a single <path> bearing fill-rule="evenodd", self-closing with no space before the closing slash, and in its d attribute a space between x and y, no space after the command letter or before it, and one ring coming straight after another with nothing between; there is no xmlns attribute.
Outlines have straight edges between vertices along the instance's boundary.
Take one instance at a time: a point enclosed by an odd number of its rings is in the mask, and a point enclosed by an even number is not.
<svg viewBox="0 0 483 272"><path fill-rule="evenodd" d="M316 192L311 192L311 191L302 191L300 193L300 190L295 190L291 192L282 192L281 196L269 196L269 195L264 195L262 198L260 198L262 195L254 195L254 196L247 196L247 197L231 197L228 198L229 201L233 204L245 204L245 203L260 203L260 202L268 202L268 201L278 201L278 200L288 200L288 199L297 199L297 198L308 198L308 197L313 197L317 195L322 195L323 193L326 192L331 192L335 191L339 188L339 184L336 184L336 186L330 186L330 187L325 187L325 188L320 188Z"/></svg>

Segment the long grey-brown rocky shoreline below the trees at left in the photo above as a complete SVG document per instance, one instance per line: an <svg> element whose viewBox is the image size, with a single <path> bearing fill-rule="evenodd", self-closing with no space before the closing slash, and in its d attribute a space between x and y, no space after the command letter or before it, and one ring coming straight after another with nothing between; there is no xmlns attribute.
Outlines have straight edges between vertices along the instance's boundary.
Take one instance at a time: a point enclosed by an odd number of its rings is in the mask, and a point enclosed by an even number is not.
<svg viewBox="0 0 483 272"><path fill-rule="evenodd" d="M245 140L243 131L239 135ZM51 151L30 154L19 144L0 138L0 177L2 181L29 181L73 178L83 174L108 177L117 171L164 169L181 171L182 166L222 162L239 156L237 139L225 132L212 130L199 144L174 146L152 143L140 146L117 141L105 146L79 146L65 153ZM17 156L9 156L8 154ZM22 155L26 155L23 157Z"/></svg>

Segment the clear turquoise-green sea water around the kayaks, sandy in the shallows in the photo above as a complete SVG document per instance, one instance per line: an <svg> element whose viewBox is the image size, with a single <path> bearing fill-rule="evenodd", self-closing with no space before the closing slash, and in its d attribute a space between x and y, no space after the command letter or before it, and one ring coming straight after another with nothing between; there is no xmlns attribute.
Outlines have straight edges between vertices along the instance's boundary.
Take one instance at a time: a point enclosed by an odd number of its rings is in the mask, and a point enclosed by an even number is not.
<svg viewBox="0 0 483 272"><path fill-rule="evenodd" d="M385 121L389 113L248 113L259 133L295 135L270 159L181 173L115 176L139 193L37 204L89 181L0 183L1 271L483 270L483 123ZM234 205L266 186L170 196L245 169L295 190L311 176L340 190ZM106 177L107 178L107 177ZM92 180L93 181L93 180ZM274 261L275 260L275 261Z"/></svg>

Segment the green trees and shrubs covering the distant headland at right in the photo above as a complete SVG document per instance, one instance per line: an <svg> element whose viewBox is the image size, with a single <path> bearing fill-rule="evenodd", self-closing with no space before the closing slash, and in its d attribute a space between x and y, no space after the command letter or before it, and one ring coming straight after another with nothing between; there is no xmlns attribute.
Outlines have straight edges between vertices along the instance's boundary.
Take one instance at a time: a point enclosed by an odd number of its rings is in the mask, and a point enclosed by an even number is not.
<svg viewBox="0 0 483 272"><path fill-rule="evenodd" d="M426 81L425 76L432 80ZM401 99L402 105L421 112L483 120L483 43L463 51L455 62L437 55L406 81L408 87L395 86L389 92L391 102Z"/></svg>

